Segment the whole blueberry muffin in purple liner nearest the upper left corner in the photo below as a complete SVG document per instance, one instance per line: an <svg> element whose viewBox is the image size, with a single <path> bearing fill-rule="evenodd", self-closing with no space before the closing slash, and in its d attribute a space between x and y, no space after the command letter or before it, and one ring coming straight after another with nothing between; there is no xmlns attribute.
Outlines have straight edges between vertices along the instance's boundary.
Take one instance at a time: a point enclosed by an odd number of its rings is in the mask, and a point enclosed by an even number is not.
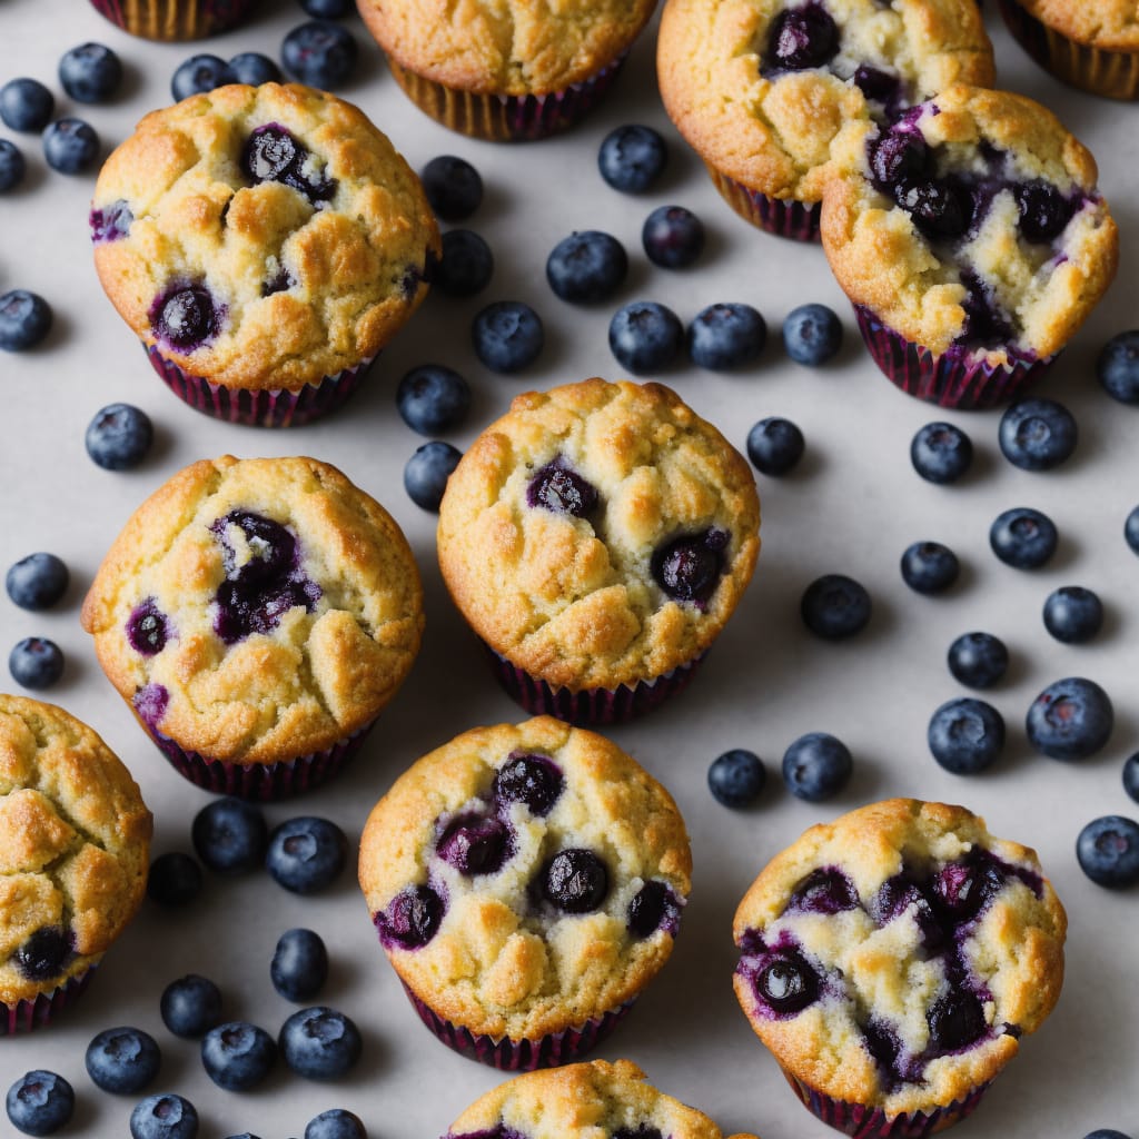
<svg viewBox="0 0 1139 1139"><path fill-rule="evenodd" d="M418 178L352 104L232 84L151 112L107 159L95 264L200 411L286 426L339 405L439 253Z"/></svg>

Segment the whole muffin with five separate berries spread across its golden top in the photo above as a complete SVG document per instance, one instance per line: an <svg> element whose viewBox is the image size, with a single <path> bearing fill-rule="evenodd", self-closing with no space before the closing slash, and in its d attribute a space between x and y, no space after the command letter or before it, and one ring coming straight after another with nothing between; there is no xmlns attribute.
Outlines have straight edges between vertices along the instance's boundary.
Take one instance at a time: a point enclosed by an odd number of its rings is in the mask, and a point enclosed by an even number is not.
<svg viewBox="0 0 1139 1139"><path fill-rule="evenodd" d="M360 839L360 886L424 1023L506 1070L575 1059L672 952L688 834L669 793L551 716L416 761Z"/></svg>

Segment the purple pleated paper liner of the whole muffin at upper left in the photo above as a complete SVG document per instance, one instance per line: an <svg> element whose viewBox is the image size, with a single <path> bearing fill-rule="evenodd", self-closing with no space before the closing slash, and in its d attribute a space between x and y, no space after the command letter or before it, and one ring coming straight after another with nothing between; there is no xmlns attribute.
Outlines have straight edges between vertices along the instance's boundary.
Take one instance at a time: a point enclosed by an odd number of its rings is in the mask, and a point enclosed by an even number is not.
<svg viewBox="0 0 1139 1139"><path fill-rule="evenodd" d="M146 346L146 353L154 370L183 403L214 419L251 427L300 427L328 415L360 386L376 359L369 357L354 368L345 368L290 392L287 388L227 387L183 371L153 344Z"/></svg>

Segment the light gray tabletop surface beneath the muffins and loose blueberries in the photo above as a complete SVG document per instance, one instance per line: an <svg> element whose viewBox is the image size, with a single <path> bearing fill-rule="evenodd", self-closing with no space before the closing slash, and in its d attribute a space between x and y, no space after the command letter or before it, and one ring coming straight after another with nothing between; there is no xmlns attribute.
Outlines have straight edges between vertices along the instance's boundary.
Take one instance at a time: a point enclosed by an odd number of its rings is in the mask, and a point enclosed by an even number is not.
<svg viewBox="0 0 1139 1139"><path fill-rule="evenodd" d="M500 147L452 134L411 107L362 25L350 22L360 63L339 93L359 103L416 169L444 153L480 169L486 196L467 224L490 241L497 268L483 296L429 297L349 407L326 423L284 433L215 423L166 391L96 279L87 226L95 175L49 171L35 137L0 128L24 149L30 167L24 188L0 199L0 292L34 289L56 312L43 347L0 354L0 567L33 550L51 550L73 574L65 601L49 613L26 613L0 598L0 647L7 654L31 634L63 647L64 680L41 695L92 724L131 768L155 814L155 853L189 849L190 820L208 797L174 775L144 738L79 628L82 595L103 554L150 491L206 456L308 453L341 466L405 528L426 583L423 654L354 765L328 788L268 810L273 823L300 813L328 816L354 844L371 804L418 755L475 724L523 718L484 672L445 596L434 557L434 516L403 492L403 464L421 440L395 412L399 378L427 361L469 378L473 413L451 440L462 448L517 392L621 376L606 343L618 303L655 298L687 322L706 304L746 301L776 330L759 364L738 375L679 367L659 378L737 446L757 419L782 415L802 427L808 454L792 477L759 477L764 514L759 568L693 689L649 719L612 732L679 801L696 874L673 959L599 1055L637 1060L657 1087L707 1111L726 1130L747 1129L764 1139L833 1134L798 1106L736 1005L731 916L759 869L810 823L893 795L940 798L964 803L984 814L995 834L1035 846L1071 918L1068 975L1056 1013L1024 1040L1023 1055L961 1134L1082 1137L1096 1126L1139 1132L1133 1083L1139 898L1092 885L1074 855L1075 837L1090 819L1139 813L1120 782L1123 760L1139 748L1139 559L1122 538L1123 519L1139 502L1139 410L1113 403L1093 378L1103 342L1139 323L1139 108L1084 97L1048 79L1010 41L993 6L985 10L1002 84L1044 101L1091 146L1123 236L1115 286L1041 386L1042 394L1072 408L1081 433L1075 457L1050 474L1027 474L1001 458L998 413L945 415L898 393L862 350L821 249L762 235L721 202L662 110L653 71L655 24L608 101L572 136ZM285 32L303 18L294 0L264 0L247 26L224 38L163 46L125 35L83 0L0 0L0 82L15 75L43 80L57 95L58 112L90 121L109 150L145 112L170 101L170 75L188 55L276 56ZM60 54L90 39L113 46L126 66L124 92L110 106L73 105L56 79ZM617 194L597 174L598 144L625 122L652 123L671 144L667 175L645 197ZM683 272L652 268L640 248L644 218L673 202L695 210L708 231L698 267ZM550 248L584 228L611 231L631 259L620 298L599 309L564 304L544 281ZM544 354L517 377L487 372L468 347L470 318L500 298L530 302L546 322ZM792 363L778 337L784 316L808 301L833 305L846 322L842 355L818 371ZM88 421L115 400L144 408L157 429L151 458L130 473L99 469L83 449ZM924 483L909 462L915 431L939 417L964 426L976 446L975 469L956 487ZM1047 510L1062 534L1052 564L1035 573L1001 565L988 546L990 522L1022 505ZM960 556L961 580L948 596L920 597L902 584L899 558L917 539L944 541ZM803 588L831 571L859 577L874 597L869 628L849 644L814 641L800 624ZM1070 583L1097 590L1107 606L1107 625L1091 646L1059 645L1041 623L1044 597ZM986 697L1008 722L1006 753L991 772L962 779L934 763L925 731L939 704L965 695L944 656L950 641L970 629L1002 637L1014 663ZM1041 688L1072 674L1104 685L1117 721L1099 756L1066 765L1035 755L1023 722ZM810 730L838 735L855 756L849 788L817 806L789 796L779 778L784 749ZM769 786L755 810L731 812L714 802L705 779L715 755L740 746L764 757ZM279 1064L254 1092L221 1091L205 1076L196 1046L162 1025L162 988L187 972L206 974L222 986L229 1016L276 1033L292 1006L273 992L268 964L278 935L295 925L310 926L327 941L334 964L321 999L355 1018L366 1041L363 1059L338 1084L305 1082ZM203 1139L244 1130L263 1139L301 1136L309 1118L333 1106L357 1112L374 1137L440 1136L501 1079L449 1051L419 1025L376 943L351 871L314 899L290 895L259 874L236 882L211 877L200 901L181 912L145 907L65 1018L48 1031L0 1040L0 1091L28 1068L54 1068L79 1097L65 1134L126 1134L133 1099L99 1092L83 1068L88 1041L114 1024L139 1025L157 1038L164 1063L151 1090L188 1096L200 1113ZM7 1126L0 1122L0 1132Z"/></svg>

